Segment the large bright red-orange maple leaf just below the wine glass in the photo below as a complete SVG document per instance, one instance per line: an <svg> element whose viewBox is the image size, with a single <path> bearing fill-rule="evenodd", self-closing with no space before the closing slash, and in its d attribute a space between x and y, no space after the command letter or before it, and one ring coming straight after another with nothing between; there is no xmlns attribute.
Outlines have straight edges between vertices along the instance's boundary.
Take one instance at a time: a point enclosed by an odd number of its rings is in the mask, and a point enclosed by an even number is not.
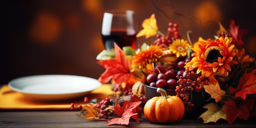
<svg viewBox="0 0 256 128"><path fill-rule="evenodd" d="M113 79L117 84L121 85L130 79L132 56L126 56L124 51L116 44L115 45L115 59L107 59L97 61L97 63L106 68L105 72L101 74L98 81L101 83L108 83Z"/></svg>

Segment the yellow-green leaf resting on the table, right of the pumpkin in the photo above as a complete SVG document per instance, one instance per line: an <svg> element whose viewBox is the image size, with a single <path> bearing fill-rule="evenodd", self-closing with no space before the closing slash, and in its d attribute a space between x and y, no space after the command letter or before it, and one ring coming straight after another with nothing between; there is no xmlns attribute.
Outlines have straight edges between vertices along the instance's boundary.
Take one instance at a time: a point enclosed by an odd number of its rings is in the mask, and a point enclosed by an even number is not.
<svg viewBox="0 0 256 128"><path fill-rule="evenodd" d="M202 118L204 120L203 124L209 122L216 122L219 119L227 120L227 114L223 111L225 110L225 108L227 108L227 105L223 105L220 108L220 106L217 103L208 103L202 108L208 109L198 117L198 119Z"/></svg>

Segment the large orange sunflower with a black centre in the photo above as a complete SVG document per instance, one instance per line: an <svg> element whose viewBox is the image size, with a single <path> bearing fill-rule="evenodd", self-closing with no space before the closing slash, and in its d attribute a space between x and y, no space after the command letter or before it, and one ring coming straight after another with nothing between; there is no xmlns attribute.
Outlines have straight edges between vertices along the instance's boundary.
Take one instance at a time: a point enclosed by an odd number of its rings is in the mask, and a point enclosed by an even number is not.
<svg viewBox="0 0 256 128"><path fill-rule="evenodd" d="M231 71L230 66L238 64L233 60L236 55L235 45L231 44L231 39L228 37L220 37L213 41L200 41L198 44L197 53L195 57L185 67L198 68L197 74L201 72L202 76L210 79L218 73L227 76L227 71Z"/></svg>

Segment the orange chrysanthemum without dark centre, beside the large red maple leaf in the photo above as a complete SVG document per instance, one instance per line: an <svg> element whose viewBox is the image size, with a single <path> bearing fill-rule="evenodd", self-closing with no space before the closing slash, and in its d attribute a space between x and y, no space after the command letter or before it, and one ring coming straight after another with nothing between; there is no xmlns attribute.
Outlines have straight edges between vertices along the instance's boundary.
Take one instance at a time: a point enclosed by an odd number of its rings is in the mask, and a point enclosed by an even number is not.
<svg viewBox="0 0 256 128"><path fill-rule="evenodd" d="M150 45L144 51L135 54L132 60L132 68L144 68L147 64L157 62L163 55L163 49L157 45Z"/></svg>

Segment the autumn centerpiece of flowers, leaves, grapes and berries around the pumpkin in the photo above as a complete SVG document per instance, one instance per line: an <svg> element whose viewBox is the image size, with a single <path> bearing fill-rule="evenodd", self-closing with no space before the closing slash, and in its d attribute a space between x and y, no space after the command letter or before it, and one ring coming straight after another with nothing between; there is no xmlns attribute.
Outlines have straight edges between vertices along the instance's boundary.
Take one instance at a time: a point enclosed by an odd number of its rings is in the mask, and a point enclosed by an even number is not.
<svg viewBox="0 0 256 128"><path fill-rule="evenodd" d="M242 37L246 30L239 29L231 20L229 29L219 22L215 39L202 37L192 43L182 39L178 25L170 22L167 34L157 28L155 14L146 18L137 37L156 36L154 44L144 43L138 49L115 44L112 51L103 50L97 63L106 68L99 82L113 86L113 94L81 108L85 118L106 119L108 125L128 124L133 118L139 122L143 115L145 84L151 87L173 89L184 103L185 111L193 110L192 92L208 94L211 103L198 118L203 123L249 119L256 115L255 58L246 54ZM189 32L189 31L188 31ZM113 118L111 118L113 117ZM120 118L122 117L122 118Z"/></svg>

